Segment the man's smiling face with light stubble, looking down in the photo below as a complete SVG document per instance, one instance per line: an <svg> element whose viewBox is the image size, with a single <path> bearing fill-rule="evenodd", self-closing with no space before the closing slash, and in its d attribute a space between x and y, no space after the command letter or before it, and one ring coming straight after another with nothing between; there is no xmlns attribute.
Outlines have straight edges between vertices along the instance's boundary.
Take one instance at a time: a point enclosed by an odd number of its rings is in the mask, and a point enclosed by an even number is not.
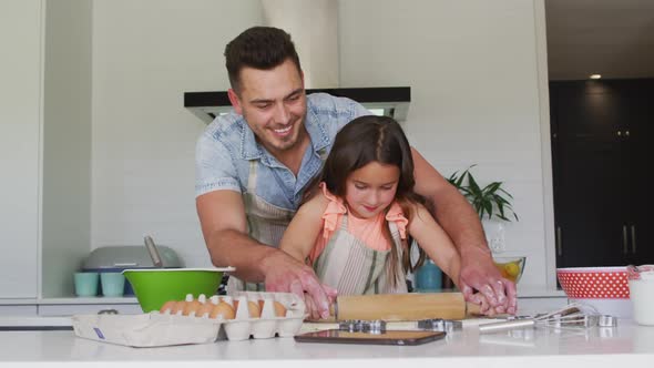
<svg viewBox="0 0 654 368"><path fill-rule="evenodd" d="M304 80L290 60L272 70L244 68L241 93L229 90L229 99L273 155L297 146L306 134Z"/></svg>

